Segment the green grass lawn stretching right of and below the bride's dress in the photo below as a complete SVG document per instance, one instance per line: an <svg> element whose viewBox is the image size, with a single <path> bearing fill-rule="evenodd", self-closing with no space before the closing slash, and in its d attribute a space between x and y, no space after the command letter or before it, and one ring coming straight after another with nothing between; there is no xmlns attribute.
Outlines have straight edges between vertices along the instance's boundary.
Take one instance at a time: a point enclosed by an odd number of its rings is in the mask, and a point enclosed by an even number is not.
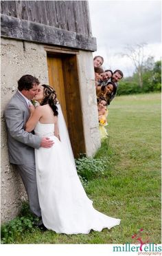
<svg viewBox="0 0 162 256"><path fill-rule="evenodd" d="M108 134L95 156L108 156L106 173L85 189L95 209L121 224L89 235L33 229L14 243L124 244L132 243L140 228L150 242L161 243L161 94L116 97L109 106Z"/></svg>

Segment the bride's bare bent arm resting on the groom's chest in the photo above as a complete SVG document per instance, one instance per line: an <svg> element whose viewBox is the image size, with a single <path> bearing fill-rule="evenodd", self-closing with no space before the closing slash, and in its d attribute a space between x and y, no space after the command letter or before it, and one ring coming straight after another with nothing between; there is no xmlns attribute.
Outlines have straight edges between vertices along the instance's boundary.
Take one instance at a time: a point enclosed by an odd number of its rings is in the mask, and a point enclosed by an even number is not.
<svg viewBox="0 0 162 256"><path fill-rule="evenodd" d="M27 120L25 124L25 131L31 132L33 131L34 127L38 123L38 120L42 116L42 107L38 106L36 109L34 106L30 106L30 118Z"/></svg>

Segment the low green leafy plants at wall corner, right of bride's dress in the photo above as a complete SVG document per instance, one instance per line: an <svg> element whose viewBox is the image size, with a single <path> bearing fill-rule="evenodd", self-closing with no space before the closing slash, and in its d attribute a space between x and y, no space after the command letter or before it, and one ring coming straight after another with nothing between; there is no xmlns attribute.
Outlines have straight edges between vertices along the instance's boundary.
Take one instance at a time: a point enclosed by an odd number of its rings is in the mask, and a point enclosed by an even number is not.
<svg viewBox="0 0 162 256"><path fill-rule="evenodd" d="M104 175L108 163L108 158L82 158L76 159L76 169L78 175L83 182L88 182L94 178L99 178Z"/></svg>

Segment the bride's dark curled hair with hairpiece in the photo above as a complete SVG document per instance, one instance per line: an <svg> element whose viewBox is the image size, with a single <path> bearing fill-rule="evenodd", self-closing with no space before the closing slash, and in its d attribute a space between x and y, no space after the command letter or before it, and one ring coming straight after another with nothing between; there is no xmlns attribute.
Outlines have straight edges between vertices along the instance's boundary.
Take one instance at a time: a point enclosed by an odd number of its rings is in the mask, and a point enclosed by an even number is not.
<svg viewBox="0 0 162 256"><path fill-rule="evenodd" d="M46 105L49 104L51 109L54 111L54 116L58 116L58 107L56 107L56 104L58 103L57 100L57 94L53 87L50 85L42 85L44 87L44 96L43 100L41 101L40 105Z"/></svg>

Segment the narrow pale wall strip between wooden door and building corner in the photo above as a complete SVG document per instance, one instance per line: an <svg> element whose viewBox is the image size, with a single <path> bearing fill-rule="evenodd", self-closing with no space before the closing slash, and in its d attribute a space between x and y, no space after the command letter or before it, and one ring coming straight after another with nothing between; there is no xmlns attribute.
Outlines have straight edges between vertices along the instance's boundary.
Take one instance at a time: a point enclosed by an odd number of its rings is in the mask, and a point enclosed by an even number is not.
<svg viewBox="0 0 162 256"><path fill-rule="evenodd" d="M77 57L86 154L92 156L100 147L101 140L98 129L93 56L91 52L80 50Z"/></svg>

